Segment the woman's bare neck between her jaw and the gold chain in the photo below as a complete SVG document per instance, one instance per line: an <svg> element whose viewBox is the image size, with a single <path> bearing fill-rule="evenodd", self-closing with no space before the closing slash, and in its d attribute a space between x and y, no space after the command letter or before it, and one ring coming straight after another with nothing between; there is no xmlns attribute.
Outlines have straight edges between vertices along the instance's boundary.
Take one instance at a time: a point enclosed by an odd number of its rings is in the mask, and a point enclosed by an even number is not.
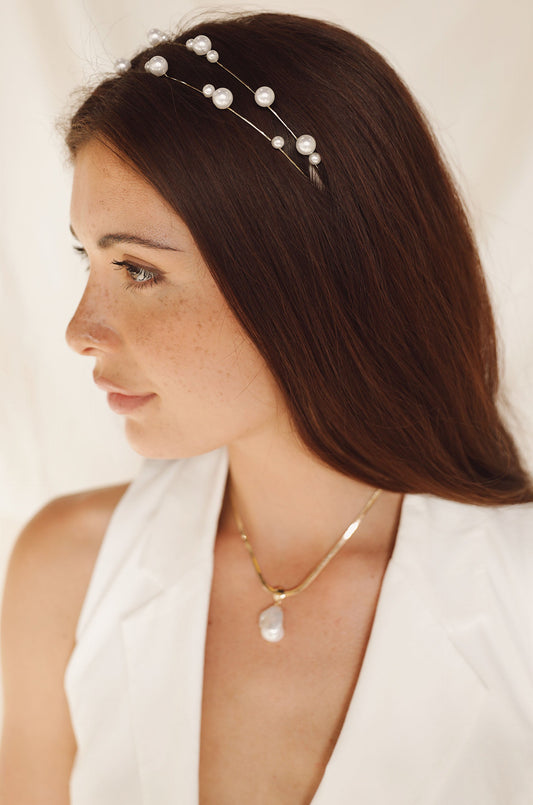
<svg viewBox="0 0 533 805"><path fill-rule="evenodd" d="M230 445L229 460L221 534L238 535L231 493L264 575L275 583L282 581L280 568L296 580L309 572L359 516L375 489L325 465L288 427ZM398 493L383 492L343 553L390 556L401 500Z"/></svg>

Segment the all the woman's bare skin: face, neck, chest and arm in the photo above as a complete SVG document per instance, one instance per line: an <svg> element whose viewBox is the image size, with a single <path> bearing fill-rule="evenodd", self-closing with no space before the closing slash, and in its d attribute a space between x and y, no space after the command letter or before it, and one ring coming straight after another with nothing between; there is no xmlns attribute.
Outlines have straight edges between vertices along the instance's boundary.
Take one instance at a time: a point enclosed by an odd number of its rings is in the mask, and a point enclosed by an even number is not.
<svg viewBox="0 0 533 805"><path fill-rule="evenodd" d="M95 359L101 384L145 396L124 414L131 445L161 458L227 445L228 489L265 577L295 586L371 489L302 445L268 367L183 221L97 142L76 158L72 228L90 271L68 342ZM75 738L63 675L94 562L123 491L55 501L15 547L3 615L9 706L0 805L67 805ZM360 673L400 507L401 495L382 493L354 538L287 603L291 633L273 646L257 629L257 613L272 601L241 545L226 490L205 638L201 805L311 801ZM59 750L51 753L51 746Z"/></svg>

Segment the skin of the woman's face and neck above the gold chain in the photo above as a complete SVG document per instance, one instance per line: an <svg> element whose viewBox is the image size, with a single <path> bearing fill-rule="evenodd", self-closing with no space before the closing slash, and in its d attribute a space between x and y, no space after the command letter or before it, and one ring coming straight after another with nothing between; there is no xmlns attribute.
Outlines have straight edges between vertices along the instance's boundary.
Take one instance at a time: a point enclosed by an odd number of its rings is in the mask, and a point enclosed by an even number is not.
<svg viewBox="0 0 533 805"><path fill-rule="evenodd" d="M234 499L254 547L267 543L265 572L291 564L294 576L299 564L308 572L371 488L324 465L302 445L277 384L188 228L142 176L98 141L86 144L75 160L71 223L90 270L67 341L95 359L96 379L129 394L153 395L125 416L132 447L152 458L179 458L227 445ZM124 234L167 248L112 242L110 236ZM393 497L398 505L399 496ZM384 501L376 506L384 531L391 521L387 509ZM357 545L365 545L363 530ZM375 534L369 547L380 547ZM279 583L300 581L290 575Z"/></svg>

